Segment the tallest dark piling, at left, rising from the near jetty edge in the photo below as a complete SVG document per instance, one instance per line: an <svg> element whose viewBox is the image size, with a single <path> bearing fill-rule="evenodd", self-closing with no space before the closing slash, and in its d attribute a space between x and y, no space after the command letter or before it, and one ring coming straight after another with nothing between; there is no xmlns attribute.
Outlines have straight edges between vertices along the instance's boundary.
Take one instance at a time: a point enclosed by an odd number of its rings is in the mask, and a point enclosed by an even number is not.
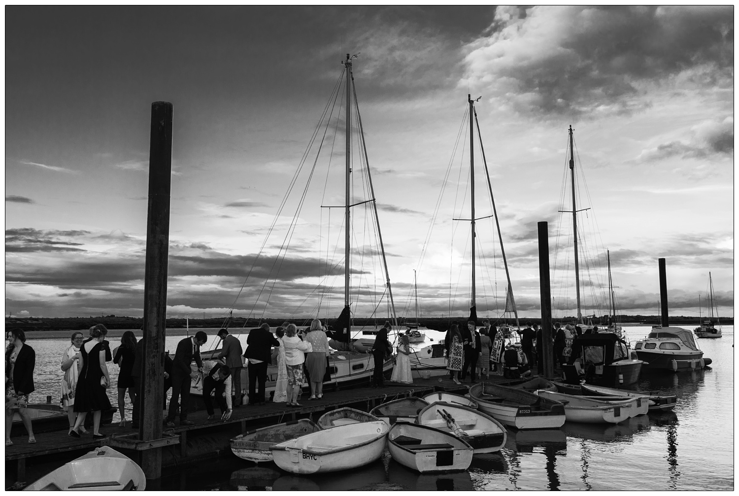
<svg viewBox="0 0 739 496"><path fill-rule="evenodd" d="M162 437L164 393L164 349L167 310L167 260L169 254L169 198L172 169L172 104L151 103L149 143L149 212L146 222L146 276L144 280L143 374L139 419L141 441ZM141 468L147 479L162 475L160 448L141 453Z"/></svg>

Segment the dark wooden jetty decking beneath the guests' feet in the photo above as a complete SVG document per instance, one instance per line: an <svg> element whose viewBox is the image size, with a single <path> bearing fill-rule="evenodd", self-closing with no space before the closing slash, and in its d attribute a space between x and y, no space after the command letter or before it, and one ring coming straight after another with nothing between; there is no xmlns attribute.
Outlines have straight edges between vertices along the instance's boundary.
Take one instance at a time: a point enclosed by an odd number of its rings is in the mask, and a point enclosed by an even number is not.
<svg viewBox="0 0 739 496"><path fill-rule="evenodd" d="M491 375L489 379L484 378L484 380L500 382L507 379ZM175 426L177 427L164 429L163 436L166 440L155 441L155 443L158 443L158 446L170 445L168 446L170 449L163 449L165 468L166 466L182 466L205 455L212 457L219 456L223 452L230 453L229 440L248 429L279 424L296 418L313 418L317 421L324 412L347 406L369 412L386 401L407 396L423 396L435 391L466 394L469 387L469 381L460 386L449 380L449 376L415 379L413 384L400 384L392 381L386 381L385 384L386 387L381 389L365 386L328 391L324 393L323 398L316 400L308 400L308 394L302 393L302 398L299 400L302 404L300 408L288 408L284 403L244 405L235 408L228 421L222 421L218 416L208 421L208 413L205 410L199 410L188 414L188 420L193 421L194 425L180 427L176 420ZM220 411L217 408L215 411L219 415ZM28 444L25 432L24 435L11 438L13 445L5 447L6 487L13 482L23 483L35 480L48 472L49 466L53 468L61 466L98 446L112 446L134 461L137 460L137 453L147 447L136 446L136 444L143 444L143 441L135 441L138 431L131 427L120 427L117 424L104 425L101 427L101 434L106 435L106 438L99 440L92 439L92 429L88 430L90 433L82 435L81 438L72 438L67 435L66 429L41 432L35 434L37 441L35 444ZM39 474L41 466L46 471Z"/></svg>

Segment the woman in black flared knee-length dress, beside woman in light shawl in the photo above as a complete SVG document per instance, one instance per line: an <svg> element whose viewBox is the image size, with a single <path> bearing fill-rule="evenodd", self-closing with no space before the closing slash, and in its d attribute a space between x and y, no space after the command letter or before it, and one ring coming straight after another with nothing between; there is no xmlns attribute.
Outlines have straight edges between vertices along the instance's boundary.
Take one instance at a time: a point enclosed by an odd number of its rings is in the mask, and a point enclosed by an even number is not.
<svg viewBox="0 0 739 496"><path fill-rule="evenodd" d="M80 378L77 382L75 397L75 412L77 421L75 427L69 431L74 438L80 437L80 426L84 424L87 412L92 410L92 438L101 439L105 436L100 433L101 410L110 408L110 400L106 389L110 387L110 376L105 364L105 347L102 324L90 327L88 339L80 348Z"/></svg>

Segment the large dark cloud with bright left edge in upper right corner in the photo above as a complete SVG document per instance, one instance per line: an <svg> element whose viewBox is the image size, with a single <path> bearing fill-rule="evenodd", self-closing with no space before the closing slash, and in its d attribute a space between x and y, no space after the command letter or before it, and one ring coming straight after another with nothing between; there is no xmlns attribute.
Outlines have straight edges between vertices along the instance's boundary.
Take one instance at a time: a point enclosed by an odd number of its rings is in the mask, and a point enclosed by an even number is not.
<svg viewBox="0 0 739 496"><path fill-rule="evenodd" d="M534 115L603 115L650 106L650 84L733 84L733 7L498 7L469 44L474 83Z"/></svg>

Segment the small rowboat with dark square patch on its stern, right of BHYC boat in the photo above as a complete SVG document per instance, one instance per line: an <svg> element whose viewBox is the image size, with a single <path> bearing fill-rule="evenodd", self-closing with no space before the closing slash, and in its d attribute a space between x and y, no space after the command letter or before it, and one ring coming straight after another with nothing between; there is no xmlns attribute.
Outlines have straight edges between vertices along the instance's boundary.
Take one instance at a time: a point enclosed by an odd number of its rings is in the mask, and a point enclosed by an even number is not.
<svg viewBox="0 0 739 496"><path fill-rule="evenodd" d="M406 421L390 427L387 447L393 460L421 473L466 470L472 463L472 446L463 438Z"/></svg>

